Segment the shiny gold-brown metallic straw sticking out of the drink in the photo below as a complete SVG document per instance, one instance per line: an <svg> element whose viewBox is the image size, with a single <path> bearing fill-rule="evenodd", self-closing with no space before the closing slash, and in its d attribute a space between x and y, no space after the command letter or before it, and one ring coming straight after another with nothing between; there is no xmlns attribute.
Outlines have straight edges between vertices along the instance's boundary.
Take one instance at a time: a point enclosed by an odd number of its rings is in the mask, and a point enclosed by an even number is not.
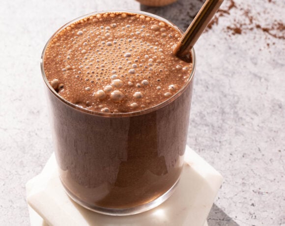
<svg viewBox="0 0 285 226"><path fill-rule="evenodd" d="M190 62L190 50L221 6L223 0L206 0L198 14L177 43L173 53L186 62Z"/></svg>

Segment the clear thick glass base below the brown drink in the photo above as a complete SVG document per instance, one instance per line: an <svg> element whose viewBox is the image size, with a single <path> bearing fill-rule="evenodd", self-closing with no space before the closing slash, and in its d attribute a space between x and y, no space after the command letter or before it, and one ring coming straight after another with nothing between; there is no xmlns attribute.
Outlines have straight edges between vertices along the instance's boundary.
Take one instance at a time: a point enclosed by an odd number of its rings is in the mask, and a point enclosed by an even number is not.
<svg viewBox="0 0 285 226"><path fill-rule="evenodd" d="M142 212L145 212L147 210L150 210L150 209L153 209L153 208L159 206L160 204L162 204L164 201L166 201L172 195L172 193L174 192L178 182L179 182L179 179L175 182L175 184L165 194L163 194L159 198L156 198L153 201L148 202L146 204L136 206L136 207L132 207L132 208L126 208L126 209L113 209L113 208L106 208L106 207L87 204L87 203L79 200L77 197L75 197L64 185L63 185L63 187L65 188L67 195L72 200L74 200L79 205L85 207L86 209L89 209L89 210L96 212L96 213L105 214L105 215L127 216L127 215L134 215L134 214L142 213Z"/></svg>

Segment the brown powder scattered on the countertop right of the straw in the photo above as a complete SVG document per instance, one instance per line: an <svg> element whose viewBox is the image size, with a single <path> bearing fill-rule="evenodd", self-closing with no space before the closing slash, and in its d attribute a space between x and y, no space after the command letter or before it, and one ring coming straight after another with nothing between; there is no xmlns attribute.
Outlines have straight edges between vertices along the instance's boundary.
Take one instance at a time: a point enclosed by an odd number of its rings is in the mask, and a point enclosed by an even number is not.
<svg viewBox="0 0 285 226"><path fill-rule="evenodd" d="M263 4L265 4L265 2ZM275 4L275 1L268 0L267 4ZM225 2L221 9L217 11L212 21L208 24L206 31L217 26L219 20L225 17L230 22L230 25L225 26L225 31L229 33L229 36L260 30L267 36L285 39L284 22L274 19L275 14L270 12L269 9L266 9L266 7L263 11L259 12L254 12L254 9L251 4L239 5L234 0L228 0L228 2ZM231 14L238 16L233 17ZM270 44L267 46L270 46Z"/></svg>

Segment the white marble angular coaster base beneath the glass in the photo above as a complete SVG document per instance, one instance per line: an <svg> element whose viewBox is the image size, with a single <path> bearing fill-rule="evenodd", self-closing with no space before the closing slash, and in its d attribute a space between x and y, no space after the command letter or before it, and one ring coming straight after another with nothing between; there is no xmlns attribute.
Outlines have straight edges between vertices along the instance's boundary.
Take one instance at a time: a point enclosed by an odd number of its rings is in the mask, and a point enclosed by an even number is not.
<svg viewBox="0 0 285 226"><path fill-rule="evenodd" d="M168 200L144 213L107 216L83 208L66 195L53 154L26 185L31 226L207 226L222 180L217 170L187 146L181 179Z"/></svg>

